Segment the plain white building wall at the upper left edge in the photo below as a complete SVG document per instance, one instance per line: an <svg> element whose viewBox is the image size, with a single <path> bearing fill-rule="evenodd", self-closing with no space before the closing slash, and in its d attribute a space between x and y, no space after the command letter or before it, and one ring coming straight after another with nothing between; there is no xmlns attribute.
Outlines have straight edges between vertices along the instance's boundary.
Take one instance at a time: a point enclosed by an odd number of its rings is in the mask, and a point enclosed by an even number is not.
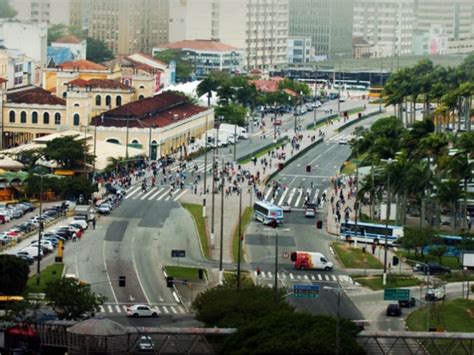
<svg viewBox="0 0 474 355"><path fill-rule="evenodd" d="M0 20L0 46L16 49L38 65L47 58L48 27L46 23L22 23Z"/></svg>

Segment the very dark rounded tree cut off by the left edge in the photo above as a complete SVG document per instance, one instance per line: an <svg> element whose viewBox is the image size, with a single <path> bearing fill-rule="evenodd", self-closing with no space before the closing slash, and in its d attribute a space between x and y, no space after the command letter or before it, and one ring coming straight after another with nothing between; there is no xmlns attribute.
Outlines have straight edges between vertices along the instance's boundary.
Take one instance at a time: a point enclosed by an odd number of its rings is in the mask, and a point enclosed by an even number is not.
<svg viewBox="0 0 474 355"><path fill-rule="evenodd" d="M15 255L0 255L0 294L20 295L26 288L30 267Z"/></svg>

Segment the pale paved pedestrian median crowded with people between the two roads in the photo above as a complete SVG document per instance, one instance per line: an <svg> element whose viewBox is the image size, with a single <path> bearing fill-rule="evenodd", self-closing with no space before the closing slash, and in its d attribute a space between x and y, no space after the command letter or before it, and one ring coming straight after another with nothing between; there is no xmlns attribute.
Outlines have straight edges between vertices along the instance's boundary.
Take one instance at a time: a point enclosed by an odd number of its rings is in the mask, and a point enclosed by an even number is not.
<svg viewBox="0 0 474 355"><path fill-rule="evenodd" d="M374 110L371 110L371 112ZM367 111L365 113L368 113ZM355 119L358 117L358 114L350 115L349 120ZM330 139L340 132L337 129L346 123L344 119L341 117L338 119L333 119L330 123L325 124L319 129L325 134L325 139ZM286 132L282 132L283 134L287 134L290 141L295 137L294 130L288 130ZM259 176L255 188L255 192L253 188L248 185L248 182L243 179L239 181L240 186L243 190L242 195L242 212L248 206L251 206L252 203L256 199L256 194L263 194L265 189L264 181L272 175L274 172L278 170L278 163L285 163L291 157L298 154L298 152L304 151L305 148L309 147L310 145L316 144L318 140L318 130L302 130L298 132L298 136L301 139L297 140L299 145L298 148L292 146L291 143L286 143L282 147L278 149L274 149L270 151L265 156L261 156L257 158L256 162L249 162L246 164L241 165L241 169L244 171L248 171L248 173L254 177ZM285 156L285 158L278 158ZM266 163L265 160L266 159ZM220 162L219 162L219 169L220 169ZM232 168L232 181L237 179L237 167ZM212 183L212 173L208 174L208 185ZM216 186L218 182L216 182ZM229 186L228 182L226 181L225 186ZM211 187L209 186L209 190ZM203 190L203 181L199 182L198 191ZM207 222L207 230L208 235L211 236L211 229L212 229L212 195L209 194L186 194L181 201L186 203L194 203L194 204L203 204L203 200L206 199L206 222ZM210 240L211 249L211 258L214 260L219 260L220 256L220 239L221 239L221 193L215 194L215 214L214 214L214 238ZM224 197L224 208L223 208L223 261L224 262L233 262L232 260L232 235L237 227L238 224L238 216L239 216L239 196L236 193L232 193L229 196Z"/></svg>

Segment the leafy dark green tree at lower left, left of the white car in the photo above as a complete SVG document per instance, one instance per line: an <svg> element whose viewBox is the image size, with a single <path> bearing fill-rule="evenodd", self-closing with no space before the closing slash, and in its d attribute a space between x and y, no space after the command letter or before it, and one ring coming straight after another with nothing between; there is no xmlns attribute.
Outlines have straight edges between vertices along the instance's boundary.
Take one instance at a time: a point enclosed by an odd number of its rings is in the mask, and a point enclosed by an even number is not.
<svg viewBox="0 0 474 355"><path fill-rule="evenodd" d="M59 318L73 320L87 318L98 312L105 297L92 292L90 285L73 278L61 278L46 285L48 304Z"/></svg>

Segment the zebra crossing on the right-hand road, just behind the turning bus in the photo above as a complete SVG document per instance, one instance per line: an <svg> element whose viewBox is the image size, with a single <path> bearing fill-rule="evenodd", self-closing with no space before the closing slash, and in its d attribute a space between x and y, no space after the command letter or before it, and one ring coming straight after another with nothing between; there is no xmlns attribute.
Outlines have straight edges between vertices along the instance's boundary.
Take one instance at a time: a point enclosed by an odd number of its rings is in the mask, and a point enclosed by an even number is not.
<svg viewBox="0 0 474 355"><path fill-rule="evenodd" d="M275 188L267 187L263 194L266 201L270 201L278 206L287 203L292 208L304 208L305 202L318 204L319 208L324 206L324 198L326 190L319 188L303 188L303 187L284 187Z"/></svg>

